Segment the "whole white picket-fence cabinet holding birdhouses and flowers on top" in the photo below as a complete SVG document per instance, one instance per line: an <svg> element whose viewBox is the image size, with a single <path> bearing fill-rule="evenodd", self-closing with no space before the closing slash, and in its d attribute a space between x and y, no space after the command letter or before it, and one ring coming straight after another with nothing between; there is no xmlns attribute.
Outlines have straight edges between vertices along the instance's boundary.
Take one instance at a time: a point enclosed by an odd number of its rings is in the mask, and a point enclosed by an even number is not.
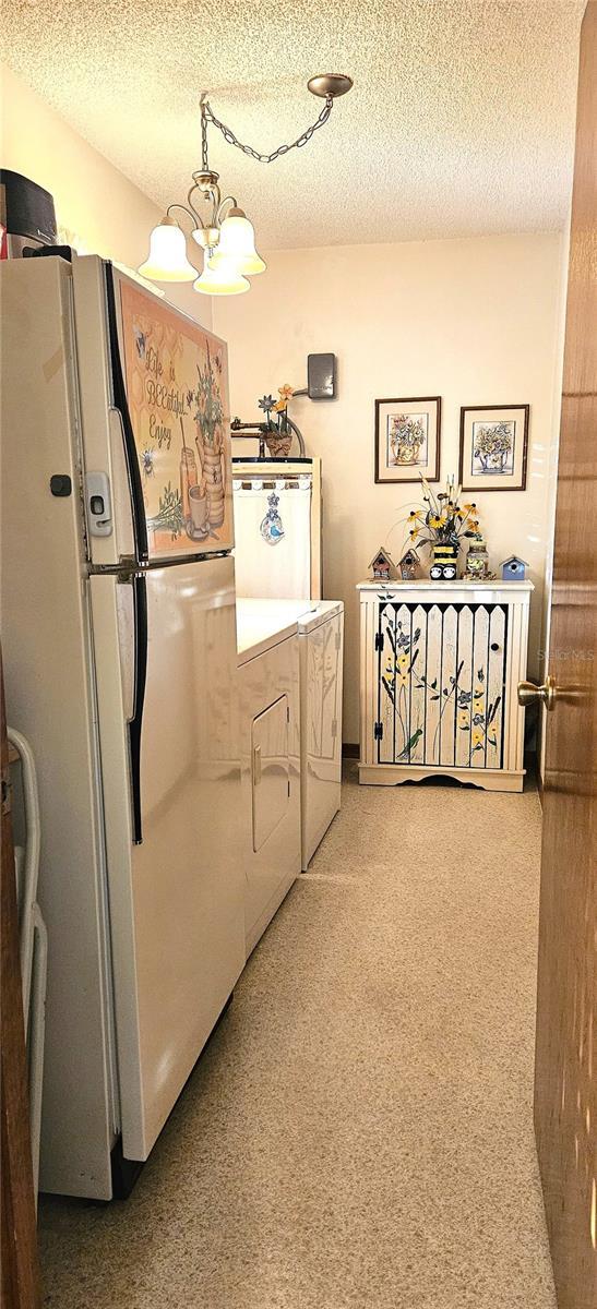
<svg viewBox="0 0 597 1309"><path fill-rule="evenodd" d="M361 583L361 783L521 791L533 584Z"/></svg>

